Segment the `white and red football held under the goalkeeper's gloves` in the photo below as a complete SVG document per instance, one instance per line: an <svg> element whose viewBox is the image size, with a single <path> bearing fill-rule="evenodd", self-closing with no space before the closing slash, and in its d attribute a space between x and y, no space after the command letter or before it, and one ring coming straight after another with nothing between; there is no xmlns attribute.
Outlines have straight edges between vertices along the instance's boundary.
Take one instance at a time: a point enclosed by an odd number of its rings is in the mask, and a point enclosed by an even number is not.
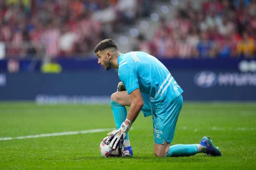
<svg viewBox="0 0 256 170"><path fill-rule="evenodd" d="M110 136L106 136L101 142L100 142L100 155L103 157L120 157L122 153L124 152L124 145L121 149L111 149L107 144L106 140Z"/></svg>

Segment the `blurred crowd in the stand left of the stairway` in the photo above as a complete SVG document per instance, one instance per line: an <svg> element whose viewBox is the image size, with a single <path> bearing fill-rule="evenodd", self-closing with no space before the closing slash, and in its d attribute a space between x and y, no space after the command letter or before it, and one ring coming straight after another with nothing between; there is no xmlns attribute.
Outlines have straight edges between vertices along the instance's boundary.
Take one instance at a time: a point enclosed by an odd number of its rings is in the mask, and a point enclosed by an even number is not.
<svg viewBox="0 0 256 170"><path fill-rule="evenodd" d="M88 55L149 12L150 0L0 0L0 59Z"/></svg>

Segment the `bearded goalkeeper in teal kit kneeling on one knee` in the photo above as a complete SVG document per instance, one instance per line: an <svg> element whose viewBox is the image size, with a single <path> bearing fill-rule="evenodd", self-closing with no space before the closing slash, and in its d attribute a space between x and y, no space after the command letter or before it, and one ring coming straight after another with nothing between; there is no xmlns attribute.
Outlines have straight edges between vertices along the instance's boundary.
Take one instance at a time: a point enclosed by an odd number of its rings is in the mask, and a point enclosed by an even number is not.
<svg viewBox="0 0 256 170"><path fill-rule="evenodd" d="M180 110L182 89L169 70L154 56L140 51L120 53L112 39L102 40L96 47L98 64L106 70L118 69L118 91L111 95L111 109L117 130L108 133L111 148L118 147L124 138L123 156L131 156L128 131L142 110L152 115L154 128L154 154L156 157L190 156L196 153L221 155L212 141L204 136L200 144L176 144L170 147ZM128 114L125 106L130 106Z"/></svg>

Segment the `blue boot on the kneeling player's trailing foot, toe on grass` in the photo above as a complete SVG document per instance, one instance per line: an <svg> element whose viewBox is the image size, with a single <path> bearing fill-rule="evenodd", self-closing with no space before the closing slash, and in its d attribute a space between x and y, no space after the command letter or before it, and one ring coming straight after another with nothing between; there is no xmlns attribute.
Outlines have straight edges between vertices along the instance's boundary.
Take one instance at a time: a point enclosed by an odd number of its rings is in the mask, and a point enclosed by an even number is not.
<svg viewBox="0 0 256 170"><path fill-rule="evenodd" d="M210 140L210 137L204 136L200 141L200 144L206 147L206 154L212 156L221 156L221 151L219 147L215 147L213 141Z"/></svg>

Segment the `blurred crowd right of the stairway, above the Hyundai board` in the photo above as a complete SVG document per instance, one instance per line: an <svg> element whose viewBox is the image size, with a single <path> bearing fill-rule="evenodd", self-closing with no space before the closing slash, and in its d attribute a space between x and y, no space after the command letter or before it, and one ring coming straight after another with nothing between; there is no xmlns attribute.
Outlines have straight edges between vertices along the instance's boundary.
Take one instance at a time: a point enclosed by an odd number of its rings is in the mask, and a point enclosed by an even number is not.
<svg viewBox="0 0 256 170"><path fill-rule="evenodd" d="M171 21L161 19L152 40L143 35L134 50L158 57L209 58L256 56L256 0L208 0L191 3Z"/></svg>

